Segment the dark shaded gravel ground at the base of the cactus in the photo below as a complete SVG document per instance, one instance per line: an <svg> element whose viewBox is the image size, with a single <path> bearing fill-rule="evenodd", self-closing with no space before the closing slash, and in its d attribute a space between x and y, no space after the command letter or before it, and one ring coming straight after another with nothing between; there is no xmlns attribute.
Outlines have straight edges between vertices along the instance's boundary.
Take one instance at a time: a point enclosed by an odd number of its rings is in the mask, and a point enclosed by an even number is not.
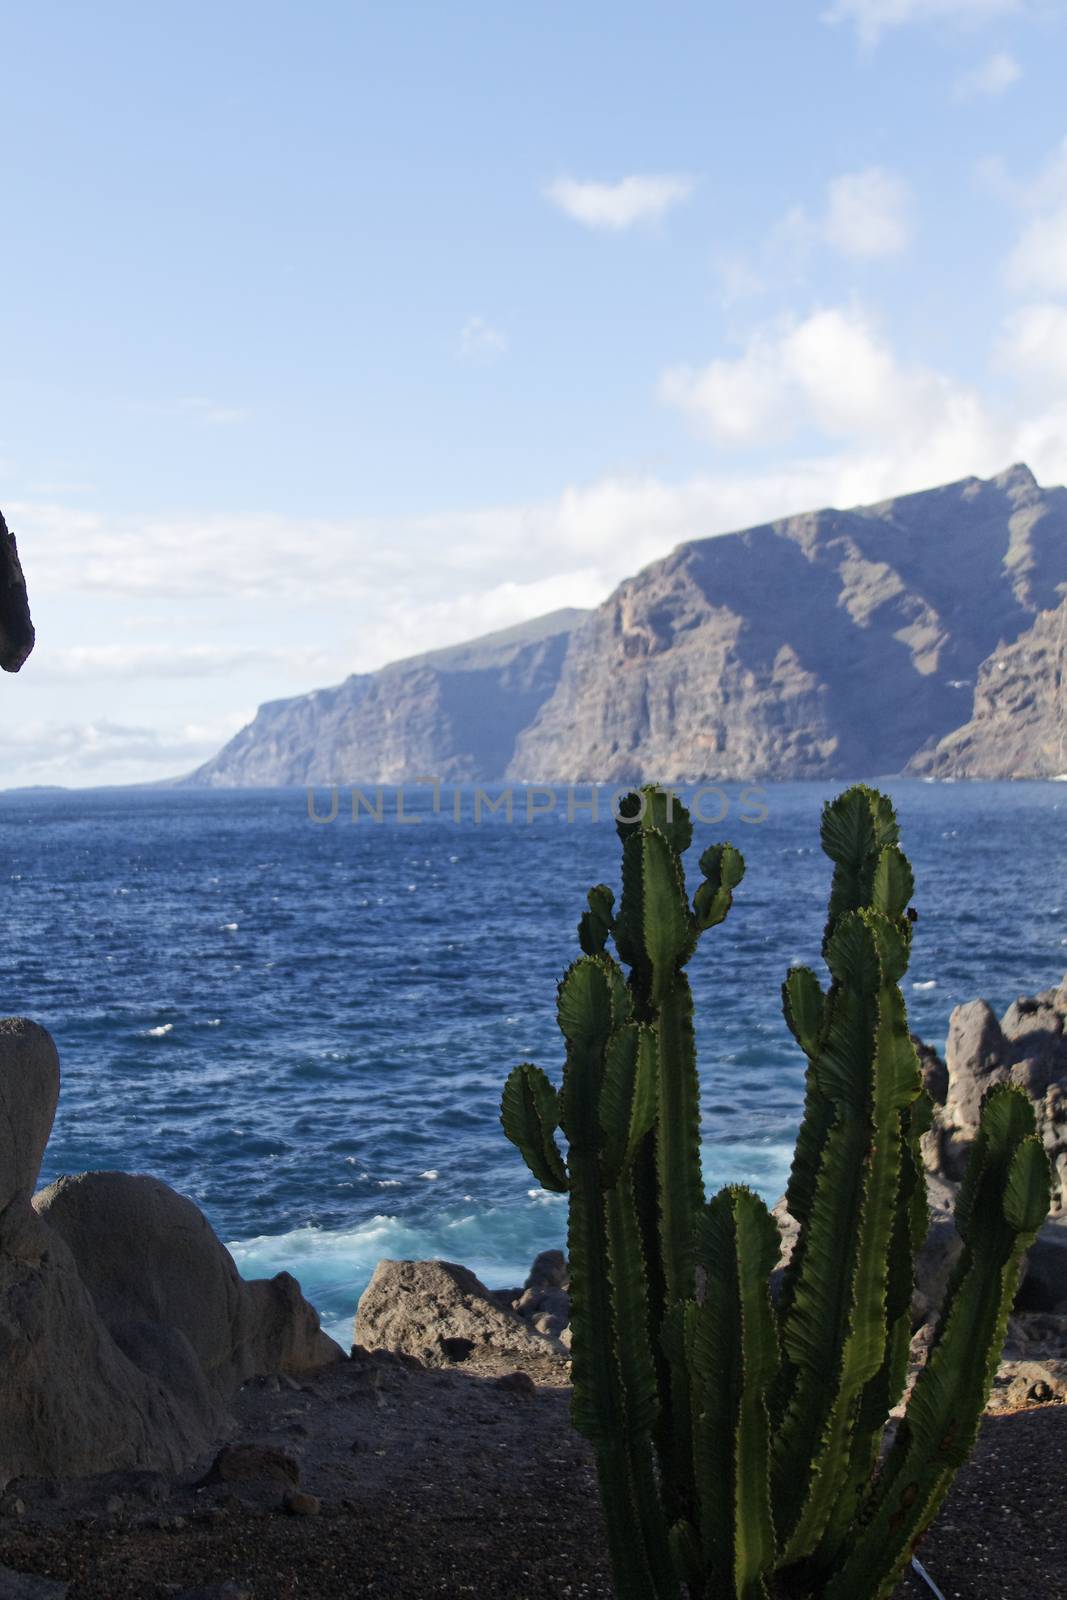
<svg viewBox="0 0 1067 1600"><path fill-rule="evenodd" d="M526 1394L499 1371L382 1357L310 1386L246 1390L237 1437L291 1454L317 1515L288 1514L264 1482L142 1475L61 1499L18 1485L2 1504L18 1496L24 1510L0 1515L0 1563L67 1579L69 1600L174 1600L227 1579L251 1600L609 1600L565 1368L545 1363ZM1064 1600L1065 1483L1067 1406L987 1418L923 1541L945 1600ZM929 1590L909 1579L897 1600L920 1595Z"/></svg>

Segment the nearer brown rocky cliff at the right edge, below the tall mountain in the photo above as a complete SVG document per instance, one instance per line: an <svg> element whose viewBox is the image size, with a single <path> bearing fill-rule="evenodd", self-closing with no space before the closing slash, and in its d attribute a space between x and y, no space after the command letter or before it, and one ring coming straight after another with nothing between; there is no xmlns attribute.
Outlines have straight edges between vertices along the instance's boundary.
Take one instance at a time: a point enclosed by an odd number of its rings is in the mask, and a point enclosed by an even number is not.
<svg viewBox="0 0 1067 1600"><path fill-rule="evenodd" d="M910 770L934 778L1067 773L1067 600L982 662L971 720Z"/></svg>

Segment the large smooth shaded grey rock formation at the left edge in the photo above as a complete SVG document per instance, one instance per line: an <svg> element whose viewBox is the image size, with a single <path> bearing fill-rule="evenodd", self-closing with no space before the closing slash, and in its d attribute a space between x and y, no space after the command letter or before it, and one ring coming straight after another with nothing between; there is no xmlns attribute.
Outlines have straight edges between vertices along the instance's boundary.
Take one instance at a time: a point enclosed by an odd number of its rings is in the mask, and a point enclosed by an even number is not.
<svg viewBox="0 0 1067 1600"><path fill-rule="evenodd" d="M45 1029L0 1021L0 1483L174 1472L226 1430L243 1376L342 1352L291 1278L242 1285L165 1184L102 1173L34 1197L58 1096Z"/></svg>

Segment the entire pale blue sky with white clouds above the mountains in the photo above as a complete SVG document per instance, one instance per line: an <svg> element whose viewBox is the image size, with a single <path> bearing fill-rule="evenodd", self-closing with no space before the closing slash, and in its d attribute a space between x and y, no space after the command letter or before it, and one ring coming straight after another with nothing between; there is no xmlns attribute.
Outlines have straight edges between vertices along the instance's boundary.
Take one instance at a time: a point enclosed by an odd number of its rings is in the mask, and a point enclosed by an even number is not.
<svg viewBox="0 0 1067 1600"><path fill-rule="evenodd" d="M0 787L1067 480L1067 0L0 0Z"/></svg>

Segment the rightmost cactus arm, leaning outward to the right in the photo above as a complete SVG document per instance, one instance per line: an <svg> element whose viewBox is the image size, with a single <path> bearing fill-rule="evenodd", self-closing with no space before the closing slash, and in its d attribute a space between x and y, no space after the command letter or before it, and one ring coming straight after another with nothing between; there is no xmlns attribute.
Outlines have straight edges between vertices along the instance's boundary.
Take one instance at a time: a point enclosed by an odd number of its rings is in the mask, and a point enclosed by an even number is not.
<svg viewBox="0 0 1067 1600"><path fill-rule="evenodd" d="M851 1600L857 1592L886 1600L893 1592L977 1435L1022 1258L1048 1203L1048 1157L1033 1134L1029 1099L997 1085L985 1094L957 1202L965 1248L937 1338L824 1600Z"/></svg>

